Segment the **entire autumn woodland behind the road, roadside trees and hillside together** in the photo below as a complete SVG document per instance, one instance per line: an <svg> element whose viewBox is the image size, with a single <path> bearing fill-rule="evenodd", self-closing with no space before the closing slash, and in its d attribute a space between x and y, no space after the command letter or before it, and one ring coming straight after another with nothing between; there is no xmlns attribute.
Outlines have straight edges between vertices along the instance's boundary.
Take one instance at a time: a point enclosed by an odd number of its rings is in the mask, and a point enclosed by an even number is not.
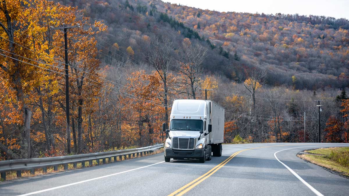
<svg viewBox="0 0 349 196"><path fill-rule="evenodd" d="M64 36L52 30L64 24L76 27L68 130ZM161 143L172 101L205 88L225 107L225 142L348 142L348 29L162 1L2 1L1 160Z"/></svg>

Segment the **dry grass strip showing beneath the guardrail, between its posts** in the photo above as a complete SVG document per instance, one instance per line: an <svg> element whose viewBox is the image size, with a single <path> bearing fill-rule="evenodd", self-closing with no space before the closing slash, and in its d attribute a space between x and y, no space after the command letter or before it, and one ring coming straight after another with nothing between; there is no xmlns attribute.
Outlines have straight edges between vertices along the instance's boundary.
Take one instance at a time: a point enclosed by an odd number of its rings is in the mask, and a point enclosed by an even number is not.
<svg viewBox="0 0 349 196"><path fill-rule="evenodd" d="M155 150L154 152L152 153L149 153L147 155L143 155L143 156L139 156L139 157L144 157L144 156L150 156L150 155L153 155L153 154L158 154L158 153L161 153L161 152L164 152L164 149L158 149L158 150ZM131 159L133 158L137 158L137 153L135 154L135 157L131 157ZM126 159L129 159L128 156ZM115 162L115 161L121 161L121 160L126 160L124 156L122 156L122 158L120 159L119 156L117 157L117 160L114 160L114 157L111 158L111 162ZM109 159L106 159L105 160L105 164L109 163ZM97 164L97 161L96 160L93 160L92 161L92 166L96 166L98 165ZM103 165L103 160L100 159L99 160L99 165ZM80 169L82 168L81 167L81 163L77 163L76 164L76 168L77 169ZM89 166L89 161L86 161L85 162L85 167L90 167ZM68 170L71 170L71 169L74 169L74 165L73 164L68 164ZM58 171L54 171L54 168L53 166L52 167L47 167L47 173L43 172L43 169L42 168L38 168L38 169L35 169L35 174L32 175L30 173L30 171L22 171L22 178L29 178L29 177L33 177L33 176L38 176L38 175L43 175L43 174L49 174L49 173L57 173L57 172L62 172L64 171L64 165L58 165ZM16 171L9 171L9 172L6 172L6 180L15 180L15 179L18 179L17 178L17 174L16 174ZM1 179L1 181L3 181L3 179Z"/></svg>

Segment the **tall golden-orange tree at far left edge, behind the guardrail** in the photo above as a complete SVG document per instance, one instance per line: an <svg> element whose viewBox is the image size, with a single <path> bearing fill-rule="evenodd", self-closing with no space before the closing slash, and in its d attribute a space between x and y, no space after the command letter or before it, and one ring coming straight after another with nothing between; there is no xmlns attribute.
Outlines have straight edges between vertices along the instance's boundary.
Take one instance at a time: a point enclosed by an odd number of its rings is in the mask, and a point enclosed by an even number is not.
<svg viewBox="0 0 349 196"><path fill-rule="evenodd" d="M21 158L31 157L31 142L30 142L30 120L31 110L28 107L27 97L32 87L35 86L35 76L37 68L30 64L34 63L31 60L32 52L22 50L18 44L27 45L28 38L25 37L20 24L23 22L20 14L24 12L22 4L25 1L1 1L0 2L0 31L3 39L1 42L1 50L6 53L0 57L1 77L2 80L8 81L6 84L12 94L16 104L14 105L18 116L15 122L18 130L20 130L21 142ZM24 30L25 31L25 30ZM23 56L23 57L21 57ZM25 59L28 58L28 59ZM25 60L25 61L24 61ZM27 62L27 63L25 63ZM1 149L9 154L12 158L17 156L1 144Z"/></svg>

